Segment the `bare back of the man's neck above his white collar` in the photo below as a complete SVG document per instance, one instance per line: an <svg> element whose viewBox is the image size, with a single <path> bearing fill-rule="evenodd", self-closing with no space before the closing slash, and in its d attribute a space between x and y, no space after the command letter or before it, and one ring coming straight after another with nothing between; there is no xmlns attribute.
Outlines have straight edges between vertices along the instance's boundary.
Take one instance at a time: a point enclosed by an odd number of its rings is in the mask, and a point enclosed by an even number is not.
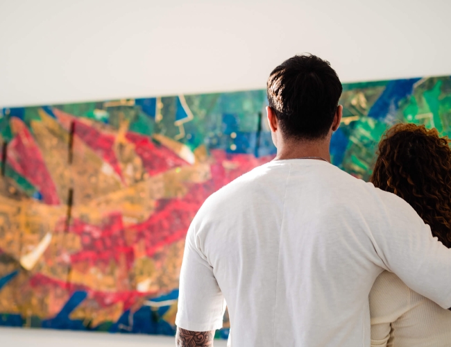
<svg viewBox="0 0 451 347"><path fill-rule="evenodd" d="M329 146L330 139L282 142L275 159L322 158L330 162Z"/></svg>

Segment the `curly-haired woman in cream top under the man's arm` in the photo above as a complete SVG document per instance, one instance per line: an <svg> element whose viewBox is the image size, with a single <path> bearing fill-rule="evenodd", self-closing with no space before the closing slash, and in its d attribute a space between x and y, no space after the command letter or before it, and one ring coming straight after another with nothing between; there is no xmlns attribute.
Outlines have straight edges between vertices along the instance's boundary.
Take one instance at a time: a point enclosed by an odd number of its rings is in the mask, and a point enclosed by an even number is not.
<svg viewBox="0 0 451 347"><path fill-rule="evenodd" d="M448 137L414 124L390 128L371 182L405 199L451 247L451 149ZM418 254L418 257L421 255ZM420 281L421 278L418 278ZM371 346L451 346L451 311L384 271L370 294Z"/></svg>

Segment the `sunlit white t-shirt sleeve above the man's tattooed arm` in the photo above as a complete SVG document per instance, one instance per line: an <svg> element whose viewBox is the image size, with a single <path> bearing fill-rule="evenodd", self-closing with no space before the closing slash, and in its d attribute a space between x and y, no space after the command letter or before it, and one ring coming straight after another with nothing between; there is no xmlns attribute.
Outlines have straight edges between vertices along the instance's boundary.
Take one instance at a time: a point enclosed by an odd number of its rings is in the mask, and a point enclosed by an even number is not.
<svg viewBox="0 0 451 347"><path fill-rule="evenodd" d="M202 252L195 220L189 227L185 243L176 325L203 332L222 328L226 305L213 268Z"/></svg>

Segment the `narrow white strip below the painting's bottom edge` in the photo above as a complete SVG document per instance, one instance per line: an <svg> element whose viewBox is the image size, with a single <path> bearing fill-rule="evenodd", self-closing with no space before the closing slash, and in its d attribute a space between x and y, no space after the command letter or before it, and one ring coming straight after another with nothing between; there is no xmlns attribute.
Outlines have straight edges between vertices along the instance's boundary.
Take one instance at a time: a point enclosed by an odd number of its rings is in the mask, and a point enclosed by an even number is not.
<svg viewBox="0 0 451 347"><path fill-rule="evenodd" d="M174 347L175 345L173 337L0 328L0 346L2 347ZM226 341L214 341L214 347L226 345Z"/></svg>

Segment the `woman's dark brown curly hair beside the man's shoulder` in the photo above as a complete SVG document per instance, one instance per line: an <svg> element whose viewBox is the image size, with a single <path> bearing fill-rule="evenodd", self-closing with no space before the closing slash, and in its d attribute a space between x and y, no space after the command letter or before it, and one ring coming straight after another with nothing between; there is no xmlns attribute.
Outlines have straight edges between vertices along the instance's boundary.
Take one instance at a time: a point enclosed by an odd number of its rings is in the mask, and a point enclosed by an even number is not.
<svg viewBox="0 0 451 347"><path fill-rule="evenodd" d="M448 137L415 124L397 124L379 144L370 181L403 198L451 248L451 149Z"/></svg>

